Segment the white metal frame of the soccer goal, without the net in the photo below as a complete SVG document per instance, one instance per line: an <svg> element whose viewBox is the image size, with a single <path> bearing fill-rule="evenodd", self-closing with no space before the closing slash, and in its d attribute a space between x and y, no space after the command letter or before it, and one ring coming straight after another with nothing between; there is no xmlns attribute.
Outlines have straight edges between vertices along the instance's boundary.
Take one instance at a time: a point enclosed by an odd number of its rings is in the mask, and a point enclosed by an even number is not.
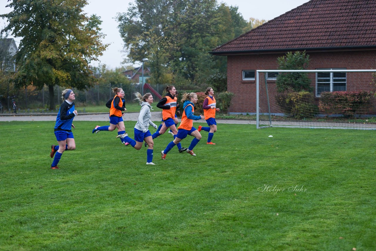
<svg viewBox="0 0 376 251"><path fill-rule="evenodd" d="M259 73L269 73L269 72L272 72L272 73L294 73L294 72L299 72L299 73L325 73L325 72L328 72L328 73L331 73L331 72L346 72L346 73L349 73L349 72L376 72L375 69L363 69L363 70L347 70L347 69L340 69L340 70L256 70L256 128L259 129L259 128L266 128L266 127L271 127L273 125L271 125L271 120L270 120L270 125L269 126L262 126L260 127L259 126L259 116L260 116L260 113L259 113L259 87L260 87L260 77L259 77ZM267 87L266 87L267 88ZM268 102L268 105L269 105L269 102ZM270 105L269 105L269 110L270 110ZM270 113L270 111L269 111ZM332 126L329 126L329 127L326 127L326 126L323 126L323 127L307 127L307 126L279 126L279 125L274 125L275 127L294 127L294 128L331 128L331 129L339 129L338 127L332 127ZM341 127L341 129L350 129L350 128L344 128L344 127ZM352 128L351 128L352 129ZM359 129L364 129L364 130L374 130L375 128L359 128Z"/></svg>

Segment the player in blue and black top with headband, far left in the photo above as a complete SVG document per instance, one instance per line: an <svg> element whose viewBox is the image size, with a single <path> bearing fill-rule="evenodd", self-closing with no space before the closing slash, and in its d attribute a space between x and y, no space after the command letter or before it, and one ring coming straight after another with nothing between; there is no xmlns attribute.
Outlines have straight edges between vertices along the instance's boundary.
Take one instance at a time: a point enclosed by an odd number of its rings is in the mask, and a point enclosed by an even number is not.
<svg viewBox="0 0 376 251"><path fill-rule="evenodd" d="M71 89L65 89L61 92L63 103L60 105L58 116L56 116L55 136L58 140L58 145L51 146L50 157L53 158L51 169L59 169L58 163L61 155L65 150L76 149L76 142L72 133L72 124L74 116L77 116L77 111L74 109L74 100L76 97ZM54 157L55 155L55 157Z"/></svg>

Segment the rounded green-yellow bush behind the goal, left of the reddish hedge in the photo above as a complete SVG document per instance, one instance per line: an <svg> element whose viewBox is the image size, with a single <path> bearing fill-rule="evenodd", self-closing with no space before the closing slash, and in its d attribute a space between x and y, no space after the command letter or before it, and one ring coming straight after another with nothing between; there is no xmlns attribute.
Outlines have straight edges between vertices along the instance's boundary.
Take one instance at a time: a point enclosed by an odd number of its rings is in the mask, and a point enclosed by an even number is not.
<svg viewBox="0 0 376 251"><path fill-rule="evenodd" d="M314 104L314 96L309 91L278 93L276 102L285 114L295 119L310 118L318 114L318 107Z"/></svg>

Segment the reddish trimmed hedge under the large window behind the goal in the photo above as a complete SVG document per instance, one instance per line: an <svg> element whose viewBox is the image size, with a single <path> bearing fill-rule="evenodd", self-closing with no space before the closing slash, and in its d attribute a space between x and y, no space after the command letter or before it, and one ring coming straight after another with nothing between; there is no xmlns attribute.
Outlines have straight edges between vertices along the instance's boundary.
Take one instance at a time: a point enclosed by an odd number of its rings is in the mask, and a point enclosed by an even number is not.
<svg viewBox="0 0 376 251"><path fill-rule="evenodd" d="M345 117L352 117L354 114L369 112L372 97L371 91L322 92L318 107L321 112L326 114L342 114Z"/></svg>

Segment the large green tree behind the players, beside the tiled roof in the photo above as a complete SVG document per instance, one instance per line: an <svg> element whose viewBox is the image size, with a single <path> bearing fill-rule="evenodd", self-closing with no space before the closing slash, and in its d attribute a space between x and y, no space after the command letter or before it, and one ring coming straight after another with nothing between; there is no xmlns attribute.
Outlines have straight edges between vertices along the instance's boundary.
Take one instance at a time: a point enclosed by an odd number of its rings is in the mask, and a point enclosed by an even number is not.
<svg viewBox="0 0 376 251"><path fill-rule="evenodd" d="M237 10L216 0L136 0L117 19L130 61L149 58L153 80L172 74L175 82L201 84L225 71L225 57L208 52L247 26Z"/></svg>

